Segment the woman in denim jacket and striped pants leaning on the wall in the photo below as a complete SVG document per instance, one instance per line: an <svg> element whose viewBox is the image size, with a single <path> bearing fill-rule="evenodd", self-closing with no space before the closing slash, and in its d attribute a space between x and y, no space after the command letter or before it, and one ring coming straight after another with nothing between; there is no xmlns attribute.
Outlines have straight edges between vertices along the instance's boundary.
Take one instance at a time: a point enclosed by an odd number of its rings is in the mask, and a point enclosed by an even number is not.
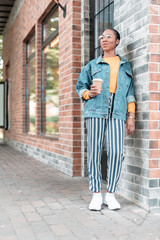
<svg viewBox="0 0 160 240"><path fill-rule="evenodd" d="M88 175L93 197L90 210L100 210L103 204L101 194L101 154L106 131L107 144L107 191L104 204L109 209L120 209L114 196L121 174L123 140L126 123L127 136L135 130L135 97L130 63L116 55L120 34L107 29L99 37L104 54L90 61L82 70L76 90L85 101L88 138ZM103 80L99 94L93 85L95 78Z"/></svg>

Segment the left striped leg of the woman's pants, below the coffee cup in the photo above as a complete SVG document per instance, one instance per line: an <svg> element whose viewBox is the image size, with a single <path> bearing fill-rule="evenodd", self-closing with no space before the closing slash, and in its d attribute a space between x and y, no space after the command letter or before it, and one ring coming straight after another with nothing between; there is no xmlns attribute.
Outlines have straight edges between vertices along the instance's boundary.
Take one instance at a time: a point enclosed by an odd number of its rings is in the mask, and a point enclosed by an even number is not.
<svg viewBox="0 0 160 240"><path fill-rule="evenodd" d="M106 128L106 119L87 118L88 138L88 175L89 189L100 192L101 187L101 155Z"/></svg>

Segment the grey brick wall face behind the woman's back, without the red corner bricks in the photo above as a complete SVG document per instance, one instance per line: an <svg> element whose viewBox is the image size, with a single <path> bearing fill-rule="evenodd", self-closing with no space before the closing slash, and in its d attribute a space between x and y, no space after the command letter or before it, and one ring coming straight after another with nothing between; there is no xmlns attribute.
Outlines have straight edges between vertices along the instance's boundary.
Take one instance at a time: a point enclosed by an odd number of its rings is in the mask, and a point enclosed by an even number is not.
<svg viewBox="0 0 160 240"><path fill-rule="evenodd" d="M136 95L136 130L125 138L118 191L150 211L160 211L160 183L149 178L149 0L114 1L115 28L121 34L117 52L130 60Z"/></svg>

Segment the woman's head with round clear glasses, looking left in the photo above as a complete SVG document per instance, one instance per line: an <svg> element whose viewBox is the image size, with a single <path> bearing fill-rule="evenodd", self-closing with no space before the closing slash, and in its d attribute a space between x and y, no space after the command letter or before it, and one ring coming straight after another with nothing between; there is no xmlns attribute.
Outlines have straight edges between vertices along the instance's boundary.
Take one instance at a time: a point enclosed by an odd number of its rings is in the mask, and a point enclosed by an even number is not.
<svg viewBox="0 0 160 240"><path fill-rule="evenodd" d="M107 52L115 50L116 46L119 44L119 40L116 38L114 32L110 29L105 30L102 34L102 37L100 36L99 40L101 48Z"/></svg>

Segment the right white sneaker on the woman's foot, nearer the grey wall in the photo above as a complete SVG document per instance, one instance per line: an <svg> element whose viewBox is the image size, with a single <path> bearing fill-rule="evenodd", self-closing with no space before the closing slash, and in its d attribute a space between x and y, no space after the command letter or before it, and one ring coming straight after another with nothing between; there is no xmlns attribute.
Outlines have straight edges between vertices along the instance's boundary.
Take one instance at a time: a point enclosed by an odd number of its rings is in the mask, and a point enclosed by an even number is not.
<svg viewBox="0 0 160 240"><path fill-rule="evenodd" d="M121 208L121 205L116 200L114 193L106 193L104 197L104 204L108 206L110 210L117 210Z"/></svg>

